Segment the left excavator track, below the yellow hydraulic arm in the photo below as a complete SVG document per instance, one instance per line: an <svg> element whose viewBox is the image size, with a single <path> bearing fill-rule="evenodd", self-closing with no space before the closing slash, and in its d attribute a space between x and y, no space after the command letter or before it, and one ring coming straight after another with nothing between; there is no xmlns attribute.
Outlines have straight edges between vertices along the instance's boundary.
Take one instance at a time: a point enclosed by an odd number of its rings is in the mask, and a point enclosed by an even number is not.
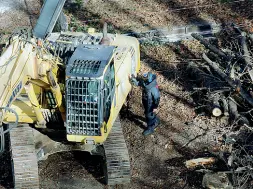
<svg viewBox="0 0 253 189"><path fill-rule="evenodd" d="M12 129L10 145L15 189L39 189L33 129L28 124Z"/></svg>

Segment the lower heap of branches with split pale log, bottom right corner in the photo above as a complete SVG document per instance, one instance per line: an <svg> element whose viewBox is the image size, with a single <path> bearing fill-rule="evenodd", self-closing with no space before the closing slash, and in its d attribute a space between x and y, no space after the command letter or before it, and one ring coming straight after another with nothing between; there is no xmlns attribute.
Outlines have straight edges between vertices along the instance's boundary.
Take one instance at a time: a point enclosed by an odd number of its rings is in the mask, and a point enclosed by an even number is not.
<svg viewBox="0 0 253 189"><path fill-rule="evenodd" d="M228 131L208 156L185 162L188 169L205 173L202 186L209 189L248 189L253 186L253 130L244 125Z"/></svg>

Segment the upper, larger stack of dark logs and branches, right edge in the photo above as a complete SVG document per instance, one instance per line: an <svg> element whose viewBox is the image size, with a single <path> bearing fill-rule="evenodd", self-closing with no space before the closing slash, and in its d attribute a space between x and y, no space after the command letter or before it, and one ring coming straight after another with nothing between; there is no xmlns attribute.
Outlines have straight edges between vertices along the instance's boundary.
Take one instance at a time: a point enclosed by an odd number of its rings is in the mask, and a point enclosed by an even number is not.
<svg viewBox="0 0 253 189"><path fill-rule="evenodd" d="M204 106L215 116L229 116L239 125L250 125L253 108L253 35L235 25L225 27L217 42L218 48L201 35L192 34L207 52L203 62L190 62L188 73L205 93Z"/></svg>

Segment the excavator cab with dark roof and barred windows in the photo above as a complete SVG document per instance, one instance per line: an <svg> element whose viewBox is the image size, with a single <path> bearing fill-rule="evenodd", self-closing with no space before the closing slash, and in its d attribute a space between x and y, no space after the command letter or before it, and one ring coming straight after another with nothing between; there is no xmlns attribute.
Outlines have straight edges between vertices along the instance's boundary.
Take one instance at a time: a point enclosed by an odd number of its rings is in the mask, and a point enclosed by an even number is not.
<svg viewBox="0 0 253 189"><path fill-rule="evenodd" d="M102 126L109 119L115 97L113 54L113 46L80 45L70 58L65 94L69 138L72 135L102 137ZM100 143L96 139L94 142Z"/></svg>

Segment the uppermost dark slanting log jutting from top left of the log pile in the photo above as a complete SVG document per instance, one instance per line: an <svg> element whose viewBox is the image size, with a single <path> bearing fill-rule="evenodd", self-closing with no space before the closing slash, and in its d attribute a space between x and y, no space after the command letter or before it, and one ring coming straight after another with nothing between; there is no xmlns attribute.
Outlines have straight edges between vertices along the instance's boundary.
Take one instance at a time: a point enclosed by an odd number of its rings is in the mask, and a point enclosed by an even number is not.
<svg viewBox="0 0 253 189"><path fill-rule="evenodd" d="M203 36L193 33L192 37L194 37L195 39L197 39L198 41L201 42L201 44L203 44L207 49L211 50L212 52L214 52L215 54L218 54L221 58L225 59L226 61L229 61L230 59L232 59L232 57L226 55L224 52L222 52L221 50L219 50L217 47L211 45L207 40L205 40L203 38Z"/></svg>

